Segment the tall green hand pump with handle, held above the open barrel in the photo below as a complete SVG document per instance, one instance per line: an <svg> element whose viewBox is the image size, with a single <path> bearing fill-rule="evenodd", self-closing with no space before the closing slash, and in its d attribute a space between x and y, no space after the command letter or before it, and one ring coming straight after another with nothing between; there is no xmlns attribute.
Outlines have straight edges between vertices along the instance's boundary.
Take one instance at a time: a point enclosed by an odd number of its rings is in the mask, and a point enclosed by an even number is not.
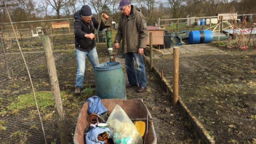
<svg viewBox="0 0 256 144"><path fill-rule="evenodd" d="M99 26L97 28L97 31L95 32L94 35L97 35L98 31L99 31L99 28L100 28L100 25L103 26L103 28L105 29L106 31L106 39L107 39L107 46L108 46L108 55L109 55L109 61L110 62L115 62L116 59L115 59L115 52L113 51L113 47L112 47L112 32L111 32L111 27L108 20L109 18L112 20L111 21L111 25L113 25L115 22L113 21L113 19L111 17L104 17L105 14L103 13L102 14L102 17L99 21Z"/></svg>

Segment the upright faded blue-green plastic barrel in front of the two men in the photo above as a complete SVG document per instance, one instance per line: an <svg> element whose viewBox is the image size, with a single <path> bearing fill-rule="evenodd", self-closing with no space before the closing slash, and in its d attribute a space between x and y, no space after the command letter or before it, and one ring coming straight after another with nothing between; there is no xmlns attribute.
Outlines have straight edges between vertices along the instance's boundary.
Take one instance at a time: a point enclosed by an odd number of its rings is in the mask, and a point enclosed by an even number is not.
<svg viewBox="0 0 256 144"><path fill-rule="evenodd" d="M96 94L101 99L126 100L124 73L119 62L100 63L95 67Z"/></svg>

